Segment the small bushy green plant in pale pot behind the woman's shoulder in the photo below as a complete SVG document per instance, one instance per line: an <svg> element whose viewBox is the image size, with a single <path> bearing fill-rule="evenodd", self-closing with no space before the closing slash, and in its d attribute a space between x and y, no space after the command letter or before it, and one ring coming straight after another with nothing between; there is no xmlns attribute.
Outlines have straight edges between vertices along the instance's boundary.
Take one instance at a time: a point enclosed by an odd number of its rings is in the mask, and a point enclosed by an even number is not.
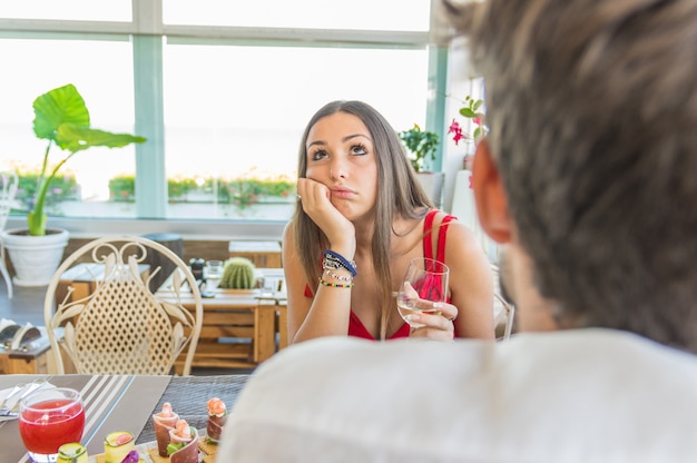
<svg viewBox="0 0 697 463"><path fill-rule="evenodd" d="M435 160L435 151L440 142L438 134L422 130L418 124L414 124L414 127L399 132L399 136L409 151L409 160L421 185L435 207L441 207L445 174L425 169L426 161Z"/></svg>

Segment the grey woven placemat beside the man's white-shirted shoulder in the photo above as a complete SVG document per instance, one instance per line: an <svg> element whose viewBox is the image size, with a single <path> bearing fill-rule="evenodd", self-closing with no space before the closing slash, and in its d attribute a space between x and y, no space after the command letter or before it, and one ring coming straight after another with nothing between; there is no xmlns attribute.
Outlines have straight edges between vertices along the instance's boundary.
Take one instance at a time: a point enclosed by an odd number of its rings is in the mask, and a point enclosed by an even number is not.
<svg viewBox="0 0 697 463"><path fill-rule="evenodd" d="M208 421L206 408L208 400L213 397L223 400L229 411L248 377L249 375L175 376L153 410L153 414L163 410L165 402L169 402L175 413L179 414L180 418L186 420L190 426L199 430L203 435L206 432L206 422ZM137 443L144 444L151 441L155 441L155 428L153 427L153 420L148 420Z"/></svg>

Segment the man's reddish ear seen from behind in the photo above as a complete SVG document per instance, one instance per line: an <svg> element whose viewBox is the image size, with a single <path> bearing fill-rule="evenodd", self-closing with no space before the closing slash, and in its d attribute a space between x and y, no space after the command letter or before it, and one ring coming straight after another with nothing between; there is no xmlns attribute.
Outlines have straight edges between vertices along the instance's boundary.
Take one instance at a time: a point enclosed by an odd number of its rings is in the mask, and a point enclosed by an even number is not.
<svg viewBox="0 0 697 463"><path fill-rule="evenodd" d="M487 139L477 145L472 167L472 187L477 214L483 230L499 244L511 240L511 219L499 169Z"/></svg>

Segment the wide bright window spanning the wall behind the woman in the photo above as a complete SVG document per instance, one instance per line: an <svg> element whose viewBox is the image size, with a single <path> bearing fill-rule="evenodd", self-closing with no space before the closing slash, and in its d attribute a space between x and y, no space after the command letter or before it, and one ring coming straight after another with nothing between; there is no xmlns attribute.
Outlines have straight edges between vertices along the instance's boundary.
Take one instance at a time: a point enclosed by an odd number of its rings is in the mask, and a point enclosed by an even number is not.
<svg viewBox="0 0 697 463"><path fill-rule="evenodd" d="M163 20L148 22L160 1ZM318 0L293 2L292 13L285 1L259 10L143 0L132 13L127 0L109 10L17 3L32 8L0 7L0 53L12 69L0 90L0 167L38 169L46 140L33 136L31 104L69 82L92 126L148 137L148 147L70 159L61 171L77 188L56 191L53 216L286 221L301 134L322 105L365 100L395 130L428 122L429 0L409 14L396 0L351 2L341 13ZM18 201L16 214L23 210Z"/></svg>

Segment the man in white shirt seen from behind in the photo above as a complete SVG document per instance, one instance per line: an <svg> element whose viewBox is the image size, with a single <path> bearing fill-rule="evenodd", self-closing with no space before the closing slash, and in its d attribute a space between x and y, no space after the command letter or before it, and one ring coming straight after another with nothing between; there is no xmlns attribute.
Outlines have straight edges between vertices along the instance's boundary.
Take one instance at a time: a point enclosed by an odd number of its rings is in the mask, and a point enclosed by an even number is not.
<svg viewBox="0 0 697 463"><path fill-rule="evenodd" d="M308 342L262 365L226 461L697 461L697 2L455 9L485 82L504 343Z"/></svg>

